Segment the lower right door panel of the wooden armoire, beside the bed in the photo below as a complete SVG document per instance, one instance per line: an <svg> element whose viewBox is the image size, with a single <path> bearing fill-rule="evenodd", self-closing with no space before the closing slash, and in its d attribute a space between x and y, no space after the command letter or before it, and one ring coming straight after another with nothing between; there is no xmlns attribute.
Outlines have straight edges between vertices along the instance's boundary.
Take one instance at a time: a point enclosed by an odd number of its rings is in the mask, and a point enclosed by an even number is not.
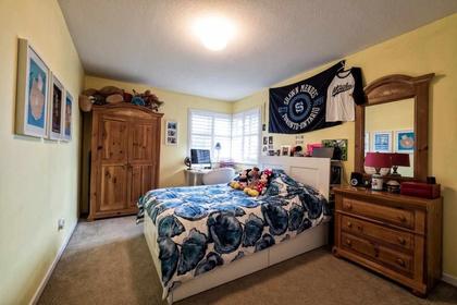
<svg viewBox="0 0 457 305"><path fill-rule="evenodd" d="M131 207L136 206L140 196L153 188L153 174L156 169L152 164L132 166L131 178Z"/></svg>

